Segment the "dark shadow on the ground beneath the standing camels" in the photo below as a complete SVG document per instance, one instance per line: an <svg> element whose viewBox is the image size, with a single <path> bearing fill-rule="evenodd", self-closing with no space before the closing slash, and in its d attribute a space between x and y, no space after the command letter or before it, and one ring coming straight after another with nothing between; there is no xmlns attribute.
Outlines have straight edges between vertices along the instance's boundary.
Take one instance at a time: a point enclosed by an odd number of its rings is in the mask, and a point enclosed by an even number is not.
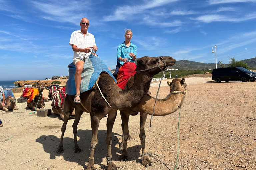
<svg viewBox="0 0 256 170"><path fill-rule="evenodd" d="M119 155L116 154L120 152L120 149L116 146L118 145L118 138L112 133L112 158L114 161L118 161ZM120 134L117 134L120 135ZM65 134L64 134L65 136ZM101 166L102 169L107 169L107 166L102 164L102 160L106 159L106 143L105 139L107 136L107 130L98 131L98 145L94 151L94 163ZM120 135L121 136L121 135ZM81 153L74 153L74 138L64 137L63 139L63 153L56 153L58 148L60 138L55 135L41 135L36 139L36 142L39 142L43 145L44 151L50 154L50 159L55 159L56 156L63 156L63 159L70 162L77 162L79 165L83 166L84 169L87 168L86 162L89 160L90 156L90 143L91 143L91 130L82 130L77 131L77 143L79 148L83 151ZM138 157L137 157L138 158ZM133 158L134 160L135 158Z"/></svg>

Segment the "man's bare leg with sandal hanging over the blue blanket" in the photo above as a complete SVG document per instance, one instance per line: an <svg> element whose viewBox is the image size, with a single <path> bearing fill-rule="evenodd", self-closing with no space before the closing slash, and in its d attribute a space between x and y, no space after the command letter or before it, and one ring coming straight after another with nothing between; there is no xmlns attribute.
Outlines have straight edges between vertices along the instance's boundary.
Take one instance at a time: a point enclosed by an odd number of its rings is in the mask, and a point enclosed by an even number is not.
<svg viewBox="0 0 256 170"><path fill-rule="evenodd" d="M78 61L76 63L76 72L75 72L75 84L76 84L76 95L80 94L80 84L81 84L81 74L84 67L84 61ZM80 100L79 96L76 96L76 102L79 102L77 99Z"/></svg>

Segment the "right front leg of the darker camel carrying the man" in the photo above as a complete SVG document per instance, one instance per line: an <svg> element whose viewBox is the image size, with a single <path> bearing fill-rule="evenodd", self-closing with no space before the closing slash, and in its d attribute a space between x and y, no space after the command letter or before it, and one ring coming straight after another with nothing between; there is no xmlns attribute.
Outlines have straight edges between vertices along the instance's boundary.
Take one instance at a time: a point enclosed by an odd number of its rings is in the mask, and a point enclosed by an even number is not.
<svg viewBox="0 0 256 170"><path fill-rule="evenodd" d="M112 145L112 129L116 120L117 111L114 110L108 114L107 119L107 137L106 137L106 146L107 146L107 164L108 170L116 170L117 166L114 164L112 159L111 145Z"/></svg>

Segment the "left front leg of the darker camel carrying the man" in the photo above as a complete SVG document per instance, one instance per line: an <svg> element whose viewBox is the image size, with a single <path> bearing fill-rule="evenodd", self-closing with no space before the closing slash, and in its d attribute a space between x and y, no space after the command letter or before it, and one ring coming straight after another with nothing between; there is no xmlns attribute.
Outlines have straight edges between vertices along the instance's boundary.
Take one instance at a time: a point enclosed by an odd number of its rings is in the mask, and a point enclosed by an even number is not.
<svg viewBox="0 0 256 170"><path fill-rule="evenodd" d="M100 114L99 114L100 115ZM94 150L98 144L98 128L101 117L96 116L95 111L91 110L91 128L92 128L92 139L91 139L91 152L86 170L96 170L94 167Z"/></svg>

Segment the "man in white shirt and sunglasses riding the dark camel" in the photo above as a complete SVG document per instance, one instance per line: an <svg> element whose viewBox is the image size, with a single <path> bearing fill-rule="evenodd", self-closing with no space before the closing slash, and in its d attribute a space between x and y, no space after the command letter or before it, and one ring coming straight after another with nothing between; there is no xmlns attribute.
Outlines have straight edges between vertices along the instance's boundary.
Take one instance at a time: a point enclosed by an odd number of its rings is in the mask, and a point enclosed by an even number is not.
<svg viewBox="0 0 256 170"><path fill-rule="evenodd" d="M81 73L83 71L84 61L89 55L98 50L94 36L87 32L89 28L89 20L87 18L82 18L80 21L81 29L74 31L71 35L69 44L72 46L74 51L73 62L76 67L75 72L75 84L76 84L76 95L74 103L81 103L80 100L80 84L81 84Z"/></svg>

